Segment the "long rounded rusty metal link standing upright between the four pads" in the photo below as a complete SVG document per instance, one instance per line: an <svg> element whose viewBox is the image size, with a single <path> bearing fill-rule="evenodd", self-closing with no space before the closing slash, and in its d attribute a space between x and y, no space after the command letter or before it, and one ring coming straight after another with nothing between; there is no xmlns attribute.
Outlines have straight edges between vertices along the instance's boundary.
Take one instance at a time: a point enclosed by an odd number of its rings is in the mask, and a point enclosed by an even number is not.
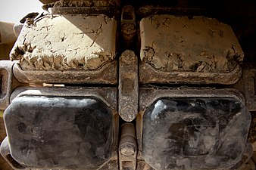
<svg viewBox="0 0 256 170"><path fill-rule="evenodd" d="M126 122L136 118L139 104L138 58L126 50L119 59L118 113Z"/></svg>

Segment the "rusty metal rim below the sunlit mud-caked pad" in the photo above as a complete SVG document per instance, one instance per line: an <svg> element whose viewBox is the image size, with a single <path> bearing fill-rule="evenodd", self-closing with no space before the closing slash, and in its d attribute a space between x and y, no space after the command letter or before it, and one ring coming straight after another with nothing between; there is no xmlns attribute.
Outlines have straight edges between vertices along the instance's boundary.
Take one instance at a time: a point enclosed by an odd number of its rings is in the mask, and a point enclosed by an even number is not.
<svg viewBox="0 0 256 170"><path fill-rule="evenodd" d="M99 70L22 70L14 64L14 76L23 83L117 84L117 61L106 63Z"/></svg>

